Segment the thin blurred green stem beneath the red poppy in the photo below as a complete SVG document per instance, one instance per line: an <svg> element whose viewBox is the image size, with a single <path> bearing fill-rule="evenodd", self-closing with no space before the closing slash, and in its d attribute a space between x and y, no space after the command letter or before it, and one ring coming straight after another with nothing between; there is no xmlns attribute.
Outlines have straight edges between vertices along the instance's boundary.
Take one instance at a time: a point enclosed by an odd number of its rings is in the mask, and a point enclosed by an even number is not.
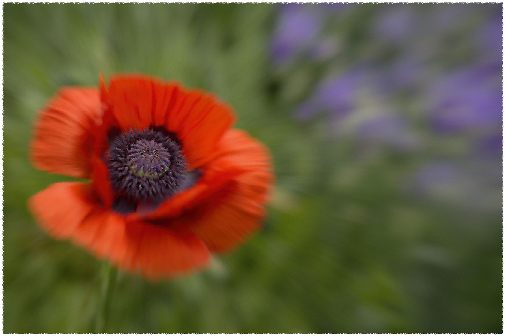
<svg viewBox="0 0 505 336"><path fill-rule="evenodd" d="M104 333L109 322L109 315L111 310L111 300L116 287L117 269L104 262L102 266L102 283L100 285L100 298L98 301L98 310L96 315L95 332Z"/></svg>

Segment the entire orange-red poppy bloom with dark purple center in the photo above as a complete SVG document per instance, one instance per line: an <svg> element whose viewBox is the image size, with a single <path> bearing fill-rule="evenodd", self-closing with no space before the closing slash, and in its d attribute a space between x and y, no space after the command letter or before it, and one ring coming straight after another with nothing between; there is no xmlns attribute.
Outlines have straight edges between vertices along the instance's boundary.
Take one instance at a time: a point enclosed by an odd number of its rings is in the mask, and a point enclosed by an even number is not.
<svg viewBox="0 0 505 336"><path fill-rule="evenodd" d="M201 269L257 230L268 150L213 95L144 76L66 87L40 113L34 166L91 180L28 201L50 235L149 279Z"/></svg>

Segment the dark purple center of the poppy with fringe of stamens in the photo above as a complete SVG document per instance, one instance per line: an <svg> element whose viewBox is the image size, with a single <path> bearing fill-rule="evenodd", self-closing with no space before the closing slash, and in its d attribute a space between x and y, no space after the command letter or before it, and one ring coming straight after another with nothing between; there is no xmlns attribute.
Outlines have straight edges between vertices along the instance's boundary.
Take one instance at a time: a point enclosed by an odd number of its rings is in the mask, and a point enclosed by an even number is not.
<svg viewBox="0 0 505 336"><path fill-rule="evenodd" d="M156 205L186 180L187 163L175 136L162 128L131 129L113 137L108 153L118 202Z"/></svg>

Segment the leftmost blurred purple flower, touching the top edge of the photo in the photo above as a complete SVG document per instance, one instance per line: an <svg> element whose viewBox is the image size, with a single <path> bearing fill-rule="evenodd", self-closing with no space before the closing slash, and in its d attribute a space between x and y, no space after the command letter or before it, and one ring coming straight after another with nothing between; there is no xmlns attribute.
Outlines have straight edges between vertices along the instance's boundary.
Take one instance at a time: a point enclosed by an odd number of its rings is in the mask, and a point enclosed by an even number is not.
<svg viewBox="0 0 505 336"><path fill-rule="evenodd" d="M272 41L274 61L283 63L307 48L321 30L321 17L303 4L283 4Z"/></svg>

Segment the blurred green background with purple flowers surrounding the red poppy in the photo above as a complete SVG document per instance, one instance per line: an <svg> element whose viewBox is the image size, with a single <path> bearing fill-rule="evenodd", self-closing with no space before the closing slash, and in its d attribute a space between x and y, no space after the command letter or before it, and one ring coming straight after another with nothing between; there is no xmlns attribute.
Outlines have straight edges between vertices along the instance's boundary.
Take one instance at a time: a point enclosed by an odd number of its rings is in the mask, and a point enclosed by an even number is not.
<svg viewBox="0 0 505 336"><path fill-rule="evenodd" d="M264 229L213 267L119 273L108 332L501 332L500 4L4 5L4 332L93 331L102 263L26 200L35 112L142 72L271 149Z"/></svg>

